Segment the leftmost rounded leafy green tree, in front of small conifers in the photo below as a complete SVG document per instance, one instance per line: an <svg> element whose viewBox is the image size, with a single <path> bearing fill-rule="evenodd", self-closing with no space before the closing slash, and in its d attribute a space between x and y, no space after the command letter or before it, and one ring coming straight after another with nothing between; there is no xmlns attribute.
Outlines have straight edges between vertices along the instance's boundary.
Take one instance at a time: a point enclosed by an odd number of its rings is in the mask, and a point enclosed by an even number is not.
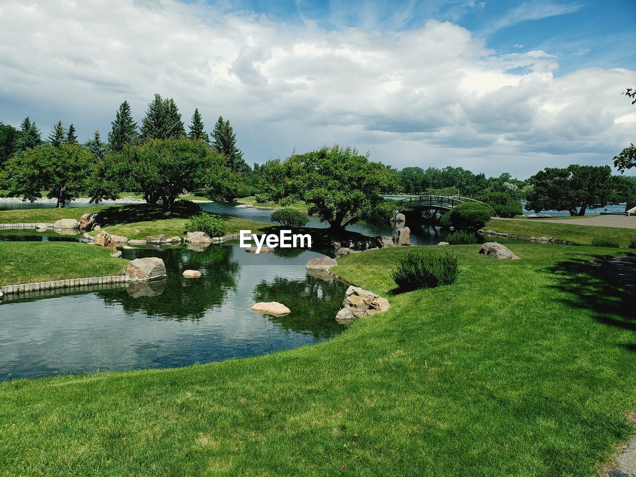
<svg viewBox="0 0 636 477"><path fill-rule="evenodd" d="M57 207L64 207L85 191L92 162L93 155L76 144L36 146L6 162L4 181L10 197L34 202L42 197L41 190L49 188L46 197L57 199Z"/></svg>

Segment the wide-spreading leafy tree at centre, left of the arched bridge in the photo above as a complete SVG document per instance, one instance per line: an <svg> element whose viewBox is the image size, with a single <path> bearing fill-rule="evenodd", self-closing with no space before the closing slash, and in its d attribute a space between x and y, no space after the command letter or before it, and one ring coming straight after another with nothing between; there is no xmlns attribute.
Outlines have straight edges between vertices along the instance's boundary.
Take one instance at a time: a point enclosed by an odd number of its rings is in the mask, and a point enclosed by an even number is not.
<svg viewBox="0 0 636 477"><path fill-rule="evenodd" d="M336 144L294 154L283 162L270 161L265 167L263 190L283 205L305 200L310 204L309 213L338 233L373 216L383 202L382 188L390 188L394 180L384 165L370 162L357 149Z"/></svg>

